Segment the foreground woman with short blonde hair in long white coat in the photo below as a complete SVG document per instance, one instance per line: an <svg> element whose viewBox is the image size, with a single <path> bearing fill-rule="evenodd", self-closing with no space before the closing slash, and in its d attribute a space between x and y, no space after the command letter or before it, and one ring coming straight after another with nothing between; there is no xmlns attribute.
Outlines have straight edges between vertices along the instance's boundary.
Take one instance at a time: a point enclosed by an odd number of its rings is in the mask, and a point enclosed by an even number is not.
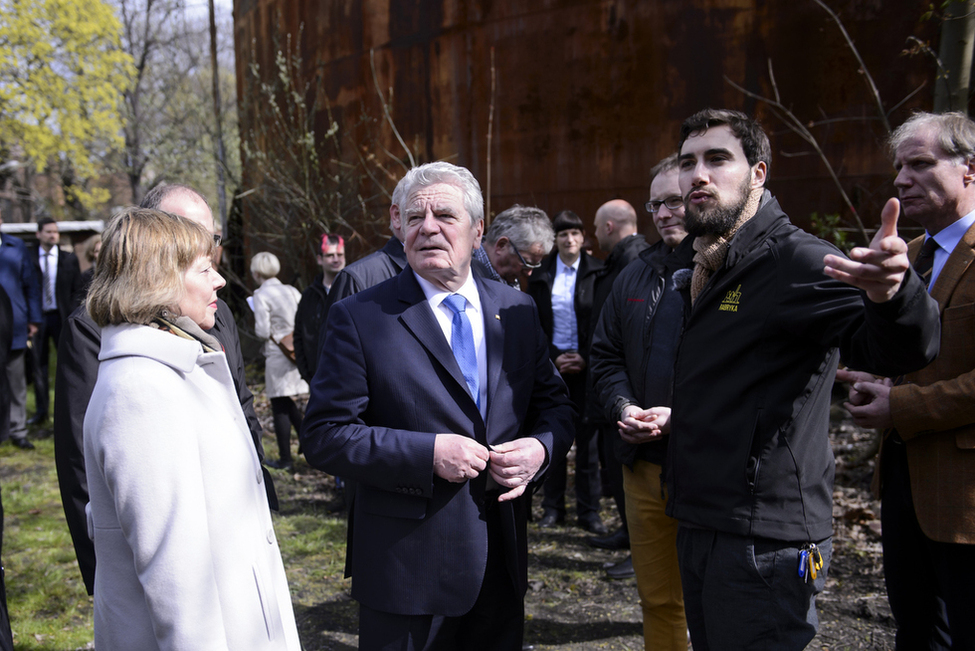
<svg viewBox="0 0 975 651"><path fill-rule="evenodd" d="M129 209L103 234L85 415L100 651L299 651L260 461L213 327L214 244Z"/></svg>

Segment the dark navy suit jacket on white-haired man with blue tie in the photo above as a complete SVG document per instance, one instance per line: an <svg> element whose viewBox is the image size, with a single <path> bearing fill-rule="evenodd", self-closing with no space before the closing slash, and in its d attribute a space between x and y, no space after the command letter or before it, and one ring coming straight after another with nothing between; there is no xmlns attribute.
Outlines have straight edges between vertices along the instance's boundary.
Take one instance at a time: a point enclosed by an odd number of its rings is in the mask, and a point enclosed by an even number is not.
<svg viewBox="0 0 975 651"><path fill-rule="evenodd" d="M404 615L459 616L487 562L485 482L433 472L438 433L494 445L534 436L548 459L572 442L572 407L549 360L534 303L475 277L487 349L487 420L412 269L336 303L301 430L314 467L358 482L352 596ZM530 491L498 506L505 558L527 585ZM490 498L488 498L490 499Z"/></svg>

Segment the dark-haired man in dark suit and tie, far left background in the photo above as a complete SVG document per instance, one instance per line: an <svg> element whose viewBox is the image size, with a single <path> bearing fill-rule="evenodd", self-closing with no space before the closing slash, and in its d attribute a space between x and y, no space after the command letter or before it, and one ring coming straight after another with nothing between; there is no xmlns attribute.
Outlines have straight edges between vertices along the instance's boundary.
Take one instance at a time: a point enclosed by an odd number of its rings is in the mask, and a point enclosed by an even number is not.
<svg viewBox="0 0 975 651"><path fill-rule="evenodd" d="M84 298L84 281L78 257L58 244L61 233L50 217L37 220L38 247L31 251L34 274L41 283L41 327L34 336L34 417L31 425L47 422L49 387L47 365L51 344L58 345L61 326Z"/></svg>

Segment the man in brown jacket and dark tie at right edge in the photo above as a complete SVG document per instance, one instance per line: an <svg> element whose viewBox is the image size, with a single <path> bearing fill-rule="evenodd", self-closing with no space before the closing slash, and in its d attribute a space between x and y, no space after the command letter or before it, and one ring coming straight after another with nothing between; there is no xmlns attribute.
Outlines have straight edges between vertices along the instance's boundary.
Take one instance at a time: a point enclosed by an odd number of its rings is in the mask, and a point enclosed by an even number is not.
<svg viewBox="0 0 975 651"><path fill-rule="evenodd" d="M897 649L975 648L975 122L919 113L890 139L908 245L941 308L941 353L903 378L854 382L850 412L885 430L884 577Z"/></svg>

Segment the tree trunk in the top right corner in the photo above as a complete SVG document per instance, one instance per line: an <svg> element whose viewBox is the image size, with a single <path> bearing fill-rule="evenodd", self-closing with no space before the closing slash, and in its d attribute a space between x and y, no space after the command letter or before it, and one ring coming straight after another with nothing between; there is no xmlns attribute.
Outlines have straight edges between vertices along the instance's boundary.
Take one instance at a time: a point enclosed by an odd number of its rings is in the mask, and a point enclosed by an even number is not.
<svg viewBox="0 0 975 651"><path fill-rule="evenodd" d="M938 57L947 78L934 89L934 112L961 111L968 114L968 87L972 74L972 44L975 43L975 2L953 0L945 9L941 24Z"/></svg>

